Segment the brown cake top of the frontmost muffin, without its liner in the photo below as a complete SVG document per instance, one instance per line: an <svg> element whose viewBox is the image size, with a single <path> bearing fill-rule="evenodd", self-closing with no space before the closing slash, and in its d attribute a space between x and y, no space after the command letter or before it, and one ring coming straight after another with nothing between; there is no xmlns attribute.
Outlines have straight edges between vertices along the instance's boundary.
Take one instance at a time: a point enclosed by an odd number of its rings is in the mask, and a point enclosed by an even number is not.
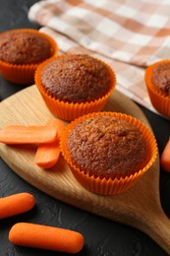
<svg viewBox="0 0 170 256"><path fill-rule="evenodd" d="M67 147L76 166L101 179L130 176L143 167L146 157L142 132L111 116L79 122L68 135Z"/></svg>

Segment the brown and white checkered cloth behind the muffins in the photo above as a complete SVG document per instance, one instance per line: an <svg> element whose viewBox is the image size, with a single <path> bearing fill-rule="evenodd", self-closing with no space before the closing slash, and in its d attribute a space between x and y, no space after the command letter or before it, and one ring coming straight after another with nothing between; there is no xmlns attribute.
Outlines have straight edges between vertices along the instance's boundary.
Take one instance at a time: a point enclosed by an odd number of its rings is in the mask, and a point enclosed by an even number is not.
<svg viewBox="0 0 170 256"><path fill-rule="evenodd" d="M116 89L155 111L144 68L170 57L169 0L45 0L29 9L28 19L56 39L60 53L106 61L116 72Z"/></svg>

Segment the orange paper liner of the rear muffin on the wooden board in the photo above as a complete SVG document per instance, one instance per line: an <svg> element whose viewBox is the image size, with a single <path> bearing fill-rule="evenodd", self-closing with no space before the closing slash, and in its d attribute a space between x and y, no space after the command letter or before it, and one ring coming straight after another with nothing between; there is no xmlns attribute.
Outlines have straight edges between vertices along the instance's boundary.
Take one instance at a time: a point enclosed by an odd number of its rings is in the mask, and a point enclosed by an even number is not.
<svg viewBox="0 0 170 256"><path fill-rule="evenodd" d="M57 56L56 58L62 58L63 56L64 56L64 54ZM56 58L53 58L53 59L56 59ZM46 60L43 63L41 63L35 72L35 84L36 84L37 89L39 90L43 100L45 101L46 106L51 111L51 113L54 116L57 116L63 120L72 121L81 115L91 113L91 112L100 111L101 109L103 109L109 96L111 96L112 92L114 91L114 89L116 87L116 76L115 76L115 73L113 72L113 70L110 68L110 66L107 65L106 63L104 63L104 65L106 65L106 67L108 68L108 70L110 72L110 76L111 76L111 80L112 80L112 86L111 86L109 92L107 92L104 96L102 96L98 99L95 99L93 101L74 103L74 102L63 101L63 100L55 98L54 96L50 96L45 91L45 88L43 87L43 85L41 83L41 72L42 72L43 68L46 66L46 64L49 63L53 59Z"/></svg>

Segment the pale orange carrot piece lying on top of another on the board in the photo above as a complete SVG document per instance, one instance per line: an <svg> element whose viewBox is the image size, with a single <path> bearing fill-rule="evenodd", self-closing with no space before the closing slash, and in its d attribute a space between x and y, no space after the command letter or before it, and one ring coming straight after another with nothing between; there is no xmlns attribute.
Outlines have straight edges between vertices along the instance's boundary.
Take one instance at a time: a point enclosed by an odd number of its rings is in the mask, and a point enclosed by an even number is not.
<svg viewBox="0 0 170 256"><path fill-rule="evenodd" d="M0 130L0 142L5 144L33 144L53 142L56 127L10 125Z"/></svg>

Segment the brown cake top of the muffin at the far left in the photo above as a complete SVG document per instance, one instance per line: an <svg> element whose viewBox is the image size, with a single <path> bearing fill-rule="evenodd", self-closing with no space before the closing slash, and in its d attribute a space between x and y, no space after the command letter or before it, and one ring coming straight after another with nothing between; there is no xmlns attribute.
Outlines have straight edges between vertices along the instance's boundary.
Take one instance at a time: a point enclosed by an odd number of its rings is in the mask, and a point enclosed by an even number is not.
<svg viewBox="0 0 170 256"><path fill-rule="evenodd" d="M37 64L51 55L51 45L40 33L10 31L0 36L0 60L11 64Z"/></svg>

